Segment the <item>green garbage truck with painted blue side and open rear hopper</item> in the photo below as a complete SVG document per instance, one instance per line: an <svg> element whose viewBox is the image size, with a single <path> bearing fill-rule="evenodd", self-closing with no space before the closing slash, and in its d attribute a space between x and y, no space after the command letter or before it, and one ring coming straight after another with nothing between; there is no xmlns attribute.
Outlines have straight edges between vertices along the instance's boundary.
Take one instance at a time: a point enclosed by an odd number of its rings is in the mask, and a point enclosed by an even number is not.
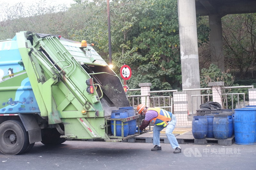
<svg viewBox="0 0 256 170"><path fill-rule="evenodd" d="M130 107L122 82L92 44L30 31L0 41L3 154L27 152L36 142L108 142L137 136L124 136L124 124L140 115L110 117L119 107ZM121 122L119 136L116 120Z"/></svg>

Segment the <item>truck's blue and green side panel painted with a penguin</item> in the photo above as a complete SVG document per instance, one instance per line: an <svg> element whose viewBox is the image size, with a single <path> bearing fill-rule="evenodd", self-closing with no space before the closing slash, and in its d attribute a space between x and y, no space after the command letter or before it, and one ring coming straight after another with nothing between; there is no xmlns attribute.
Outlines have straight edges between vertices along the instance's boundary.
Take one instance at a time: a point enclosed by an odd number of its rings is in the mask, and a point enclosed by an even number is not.
<svg viewBox="0 0 256 170"><path fill-rule="evenodd" d="M16 37L0 41L0 113L40 113Z"/></svg>

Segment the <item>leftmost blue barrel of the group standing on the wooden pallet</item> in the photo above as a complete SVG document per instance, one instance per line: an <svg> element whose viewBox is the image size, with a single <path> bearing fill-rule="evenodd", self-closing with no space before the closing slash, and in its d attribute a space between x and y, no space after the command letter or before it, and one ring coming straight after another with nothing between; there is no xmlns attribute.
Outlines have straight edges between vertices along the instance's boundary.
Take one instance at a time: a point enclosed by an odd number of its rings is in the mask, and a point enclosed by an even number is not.
<svg viewBox="0 0 256 170"><path fill-rule="evenodd" d="M204 139L207 135L206 116L194 116L192 121L192 134L195 139Z"/></svg>

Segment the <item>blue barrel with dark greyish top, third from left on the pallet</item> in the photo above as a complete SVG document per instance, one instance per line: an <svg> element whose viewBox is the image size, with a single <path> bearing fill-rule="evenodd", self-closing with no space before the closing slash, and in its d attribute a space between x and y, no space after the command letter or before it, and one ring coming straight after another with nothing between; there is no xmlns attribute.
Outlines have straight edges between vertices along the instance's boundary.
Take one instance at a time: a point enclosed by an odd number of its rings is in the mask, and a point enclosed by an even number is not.
<svg viewBox="0 0 256 170"><path fill-rule="evenodd" d="M212 124L215 139L228 138L228 115L214 115Z"/></svg>

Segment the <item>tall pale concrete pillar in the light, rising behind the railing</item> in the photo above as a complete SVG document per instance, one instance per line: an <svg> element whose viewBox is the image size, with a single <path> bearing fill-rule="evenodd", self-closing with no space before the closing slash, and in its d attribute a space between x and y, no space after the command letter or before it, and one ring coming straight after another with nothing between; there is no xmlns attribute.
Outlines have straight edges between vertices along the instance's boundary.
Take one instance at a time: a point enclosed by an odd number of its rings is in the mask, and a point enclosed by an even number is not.
<svg viewBox="0 0 256 170"><path fill-rule="evenodd" d="M200 88L200 74L196 31L196 4L192 0L178 0L180 59L182 89ZM188 91L188 110L192 113L191 95L200 95L200 91ZM194 101L195 100L195 101ZM196 102L193 98L194 113Z"/></svg>

